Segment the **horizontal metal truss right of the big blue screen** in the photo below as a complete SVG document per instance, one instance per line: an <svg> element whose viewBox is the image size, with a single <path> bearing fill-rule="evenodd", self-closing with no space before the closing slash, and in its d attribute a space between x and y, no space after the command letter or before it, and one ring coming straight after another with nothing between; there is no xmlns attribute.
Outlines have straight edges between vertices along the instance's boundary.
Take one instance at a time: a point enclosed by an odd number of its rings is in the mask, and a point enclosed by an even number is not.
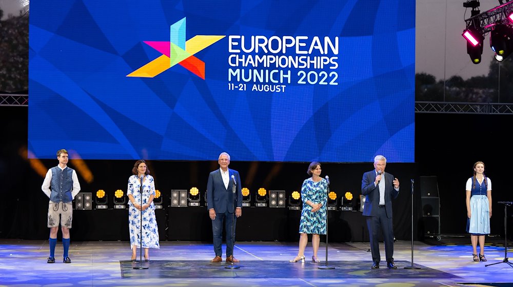
<svg viewBox="0 0 513 287"><path fill-rule="evenodd" d="M513 104L449 103L447 101L416 101L416 113L432 114L509 114Z"/></svg>

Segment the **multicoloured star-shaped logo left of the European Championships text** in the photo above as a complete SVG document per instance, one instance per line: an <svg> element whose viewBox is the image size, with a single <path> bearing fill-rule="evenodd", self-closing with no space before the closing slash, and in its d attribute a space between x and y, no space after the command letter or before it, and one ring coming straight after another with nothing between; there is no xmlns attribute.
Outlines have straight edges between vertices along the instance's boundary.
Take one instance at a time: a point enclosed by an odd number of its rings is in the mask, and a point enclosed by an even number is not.
<svg viewBox="0 0 513 287"><path fill-rule="evenodd" d="M170 42L144 41L151 48L162 53L143 67L131 72L127 77L152 78L178 64L202 79L205 79L205 62L196 58L195 53L218 42L224 35L195 35L185 40L185 17L169 29Z"/></svg>

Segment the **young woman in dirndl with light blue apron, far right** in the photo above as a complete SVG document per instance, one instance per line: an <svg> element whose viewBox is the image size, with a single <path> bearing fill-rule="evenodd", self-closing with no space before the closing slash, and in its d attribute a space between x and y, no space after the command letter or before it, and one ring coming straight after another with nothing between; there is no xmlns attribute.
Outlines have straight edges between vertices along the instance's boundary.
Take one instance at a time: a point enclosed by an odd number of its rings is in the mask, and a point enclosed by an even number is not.
<svg viewBox="0 0 513 287"><path fill-rule="evenodd" d="M484 239L490 234L491 217L491 180L484 175L484 163L474 163L474 176L467 180L467 232L472 243L474 261L486 261L484 257ZM479 241L479 257L477 245Z"/></svg>

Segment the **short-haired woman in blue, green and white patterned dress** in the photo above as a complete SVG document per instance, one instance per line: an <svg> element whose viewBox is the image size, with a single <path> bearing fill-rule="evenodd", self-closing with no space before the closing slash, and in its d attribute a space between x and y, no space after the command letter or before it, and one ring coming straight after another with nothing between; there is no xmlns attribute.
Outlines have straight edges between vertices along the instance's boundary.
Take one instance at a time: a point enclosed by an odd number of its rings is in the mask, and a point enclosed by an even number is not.
<svg viewBox="0 0 513 287"><path fill-rule="evenodd" d="M326 234L326 203L328 200L328 182L322 178L321 163L310 163L307 170L310 178L303 181L301 187L301 200L303 210L299 222L299 252L290 262L305 261L305 248L308 243L308 234L312 235L313 256L312 262L319 263L317 251L319 250L320 234Z"/></svg>

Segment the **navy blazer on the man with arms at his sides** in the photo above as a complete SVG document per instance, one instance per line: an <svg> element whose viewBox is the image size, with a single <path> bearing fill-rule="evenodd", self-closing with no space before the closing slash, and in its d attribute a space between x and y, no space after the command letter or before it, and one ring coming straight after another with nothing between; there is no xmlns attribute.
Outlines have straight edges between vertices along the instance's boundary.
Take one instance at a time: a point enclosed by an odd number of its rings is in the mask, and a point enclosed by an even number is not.
<svg viewBox="0 0 513 287"><path fill-rule="evenodd" d="M225 188L221 171L215 170L208 175L207 182L207 209L213 208L215 213L234 213L233 201L234 196L236 200L236 207L242 208L242 188L241 176L238 171L228 169L230 181L228 182L228 189ZM237 181L237 190L233 193L233 179L235 176Z"/></svg>

